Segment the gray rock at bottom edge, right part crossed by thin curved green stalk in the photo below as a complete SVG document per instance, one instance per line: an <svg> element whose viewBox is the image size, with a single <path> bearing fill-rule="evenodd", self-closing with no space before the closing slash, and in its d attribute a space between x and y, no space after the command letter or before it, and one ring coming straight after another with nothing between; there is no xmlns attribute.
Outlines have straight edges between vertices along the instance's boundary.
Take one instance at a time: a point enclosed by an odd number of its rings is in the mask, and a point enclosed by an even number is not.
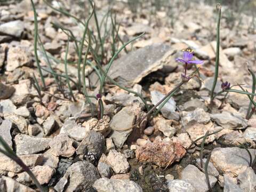
<svg viewBox="0 0 256 192"><path fill-rule="evenodd" d="M208 191L205 174L194 165L188 165L185 167L181 173L181 179L191 183L198 192ZM213 187L217 182L217 179L212 175L209 175L209 180L211 187Z"/></svg>

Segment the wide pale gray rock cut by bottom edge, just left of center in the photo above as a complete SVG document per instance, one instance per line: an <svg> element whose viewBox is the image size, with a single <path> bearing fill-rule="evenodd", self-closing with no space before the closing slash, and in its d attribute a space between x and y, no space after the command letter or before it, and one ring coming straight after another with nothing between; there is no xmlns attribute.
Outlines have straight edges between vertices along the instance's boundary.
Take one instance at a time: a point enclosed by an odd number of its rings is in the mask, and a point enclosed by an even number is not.
<svg viewBox="0 0 256 192"><path fill-rule="evenodd" d="M143 192L137 183L121 179L101 178L94 182L93 188L98 192Z"/></svg>

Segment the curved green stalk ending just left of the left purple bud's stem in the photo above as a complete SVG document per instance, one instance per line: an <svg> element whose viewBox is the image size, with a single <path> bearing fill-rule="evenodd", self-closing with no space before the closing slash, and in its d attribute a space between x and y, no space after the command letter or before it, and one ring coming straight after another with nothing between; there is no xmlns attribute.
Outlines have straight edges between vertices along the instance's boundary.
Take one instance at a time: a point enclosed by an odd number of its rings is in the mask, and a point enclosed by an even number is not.
<svg viewBox="0 0 256 192"><path fill-rule="evenodd" d="M86 61L87 61L87 55L88 55L88 53L90 51L90 47L91 47L90 30L88 30L88 38L89 38L89 43L88 43L88 47L87 47L87 50L86 50L85 55L84 55L83 70L82 70L83 93L84 93L84 96L85 96L87 102L91 106L91 114L92 114L92 116L94 116L94 110L93 110L93 105L92 105L91 99L89 97L87 97L88 94L87 94L87 91L86 91L86 82L85 82L85 66L86 66Z"/></svg>

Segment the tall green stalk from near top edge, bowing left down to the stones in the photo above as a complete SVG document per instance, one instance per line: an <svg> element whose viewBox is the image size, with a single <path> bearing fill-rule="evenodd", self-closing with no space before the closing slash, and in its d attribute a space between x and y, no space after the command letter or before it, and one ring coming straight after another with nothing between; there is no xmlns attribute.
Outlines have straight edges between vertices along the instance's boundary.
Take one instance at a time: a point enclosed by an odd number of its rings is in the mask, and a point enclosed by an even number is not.
<svg viewBox="0 0 256 192"><path fill-rule="evenodd" d="M82 37L82 41L80 44L80 49L79 49L79 54L78 54L78 63L77 63L77 73L78 73L78 91L81 91L81 63L82 63L82 53L83 53L83 47L84 47L84 41L85 41L85 35L87 33L87 29L88 29L88 25L89 25L89 21L92 18L92 15L94 13L94 9L95 9L95 4L92 5L92 13L90 14L89 18L87 19L86 25L84 27L84 33L83 33L83 37Z"/></svg>

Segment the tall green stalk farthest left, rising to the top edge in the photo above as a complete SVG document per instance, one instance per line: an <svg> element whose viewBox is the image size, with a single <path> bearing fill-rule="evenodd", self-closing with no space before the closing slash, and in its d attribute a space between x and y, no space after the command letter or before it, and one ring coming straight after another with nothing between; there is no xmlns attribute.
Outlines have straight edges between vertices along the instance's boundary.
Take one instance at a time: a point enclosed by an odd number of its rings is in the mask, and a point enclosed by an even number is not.
<svg viewBox="0 0 256 192"><path fill-rule="evenodd" d="M37 69L38 72L41 76L41 81L43 83L43 89L45 89L45 81L44 81L44 76L39 64L39 59L38 59L38 55L37 55L37 37L38 37L38 23L37 23L37 13L36 13L36 8L35 8L35 4L33 2L33 0L30 0L32 7L33 7L33 11L34 11L34 22L35 22L35 35L34 35L34 53L35 53L35 60L36 60L36 65L37 65Z"/></svg>

